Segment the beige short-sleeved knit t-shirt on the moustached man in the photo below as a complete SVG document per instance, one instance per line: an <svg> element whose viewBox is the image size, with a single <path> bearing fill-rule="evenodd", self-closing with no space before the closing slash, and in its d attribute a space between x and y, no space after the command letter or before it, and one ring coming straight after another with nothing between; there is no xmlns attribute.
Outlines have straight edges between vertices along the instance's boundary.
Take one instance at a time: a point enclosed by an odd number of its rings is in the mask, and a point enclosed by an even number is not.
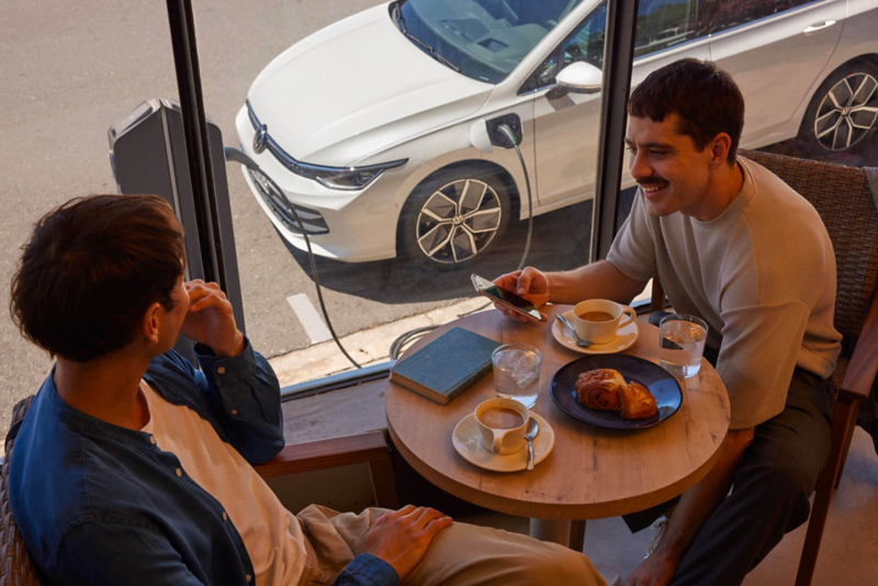
<svg viewBox="0 0 878 586"><path fill-rule="evenodd" d="M730 428L745 429L784 410L797 365L831 376L842 336L833 326L835 255L820 215L777 176L738 160L741 192L709 222L654 217L638 191L607 260L637 281L657 273L674 311L707 322Z"/></svg>

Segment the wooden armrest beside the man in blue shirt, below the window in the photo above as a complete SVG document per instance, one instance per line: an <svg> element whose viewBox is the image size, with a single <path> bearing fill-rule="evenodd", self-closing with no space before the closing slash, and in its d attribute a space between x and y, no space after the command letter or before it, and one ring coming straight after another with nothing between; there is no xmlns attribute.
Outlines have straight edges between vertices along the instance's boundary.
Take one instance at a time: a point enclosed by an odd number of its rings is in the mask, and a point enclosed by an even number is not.
<svg viewBox="0 0 878 586"><path fill-rule="evenodd" d="M281 452L254 466L263 478L312 470L390 461L383 431L370 431L347 438L309 441L285 446Z"/></svg>

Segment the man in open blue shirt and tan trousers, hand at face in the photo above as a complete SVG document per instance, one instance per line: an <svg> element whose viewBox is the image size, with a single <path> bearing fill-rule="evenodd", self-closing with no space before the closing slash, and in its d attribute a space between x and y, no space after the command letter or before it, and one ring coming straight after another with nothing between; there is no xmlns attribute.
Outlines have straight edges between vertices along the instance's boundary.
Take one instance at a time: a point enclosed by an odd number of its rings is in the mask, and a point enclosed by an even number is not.
<svg viewBox="0 0 878 586"><path fill-rule="evenodd" d="M72 200L23 250L12 317L56 363L9 489L46 583L604 584L579 553L429 508L284 509L251 466L284 444L278 380L219 288L183 282L161 199Z"/></svg>

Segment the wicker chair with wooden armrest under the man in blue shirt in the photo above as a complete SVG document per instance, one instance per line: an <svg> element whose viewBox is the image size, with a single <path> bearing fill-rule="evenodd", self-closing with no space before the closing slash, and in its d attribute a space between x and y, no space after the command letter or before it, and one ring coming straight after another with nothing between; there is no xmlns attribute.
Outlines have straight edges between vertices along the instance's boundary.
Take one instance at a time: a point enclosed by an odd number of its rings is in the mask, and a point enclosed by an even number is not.
<svg viewBox="0 0 878 586"><path fill-rule="evenodd" d="M15 405L10 431L24 420L33 399L34 395L31 395ZM5 458L0 469L0 586L40 586L36 568L24 549L9 504L7 482L14 443L14 438L7 436ZM378 506L398 508L390 450L383 431L286 446L272 460L254 467L262 477L270 477L359 463L369 465Z"/></svg>

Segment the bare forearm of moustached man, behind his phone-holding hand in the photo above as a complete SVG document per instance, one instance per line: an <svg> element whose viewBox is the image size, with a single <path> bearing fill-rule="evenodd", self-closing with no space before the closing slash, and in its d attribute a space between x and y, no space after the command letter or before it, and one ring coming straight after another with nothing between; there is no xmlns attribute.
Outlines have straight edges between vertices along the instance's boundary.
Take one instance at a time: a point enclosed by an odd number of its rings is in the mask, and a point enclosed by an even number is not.
<svg viewBox="0 0 878 586"><path fill-rule="evenodd" d="M606 260L565 272L547 273L552 303L575 305L601 298L630 303L646 283L629 279Z"/></svg>

